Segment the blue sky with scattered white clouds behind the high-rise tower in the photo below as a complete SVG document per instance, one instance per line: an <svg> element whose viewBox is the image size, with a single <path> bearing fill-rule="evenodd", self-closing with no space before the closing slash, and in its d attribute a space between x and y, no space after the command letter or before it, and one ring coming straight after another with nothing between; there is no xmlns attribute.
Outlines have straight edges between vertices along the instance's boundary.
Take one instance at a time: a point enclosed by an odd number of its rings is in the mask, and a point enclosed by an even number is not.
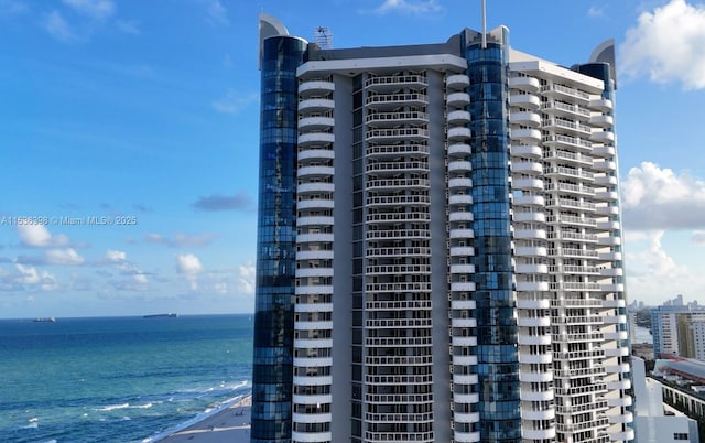
<svg viewBox="0 0 705 443"><path fill-rule="evenodd" d="M444 42L479 10L0 0L0 317L252 312L258 13L351 47ZM488 0L499 24L563 65L616 40L628 296L702 299L705 3ZM90 217L111 224L69 224Z"/></svg>

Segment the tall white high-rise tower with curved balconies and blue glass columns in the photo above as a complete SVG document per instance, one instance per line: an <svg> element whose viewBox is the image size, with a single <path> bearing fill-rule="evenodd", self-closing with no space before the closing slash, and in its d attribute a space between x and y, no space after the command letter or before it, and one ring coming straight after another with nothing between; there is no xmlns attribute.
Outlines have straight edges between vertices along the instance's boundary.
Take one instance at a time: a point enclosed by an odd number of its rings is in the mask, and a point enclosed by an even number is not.
<svg viewBox="0 0 705 443"><path fill-rule="evenodd" d="M260 18L252 442L633 440L614 46Z"/></svg>

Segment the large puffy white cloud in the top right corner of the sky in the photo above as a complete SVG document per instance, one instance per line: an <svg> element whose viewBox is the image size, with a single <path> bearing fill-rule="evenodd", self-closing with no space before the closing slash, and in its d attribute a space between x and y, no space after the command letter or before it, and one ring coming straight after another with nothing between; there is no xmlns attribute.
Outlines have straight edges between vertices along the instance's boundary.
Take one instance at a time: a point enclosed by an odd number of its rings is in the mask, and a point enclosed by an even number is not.
<svg viewBox="0 0 705 443"><path fill-rule="evenodd" d="M671 0L639 15L627 31L620 65L630 76L649 73L653 82L705 88L705 6Z"/></svg>

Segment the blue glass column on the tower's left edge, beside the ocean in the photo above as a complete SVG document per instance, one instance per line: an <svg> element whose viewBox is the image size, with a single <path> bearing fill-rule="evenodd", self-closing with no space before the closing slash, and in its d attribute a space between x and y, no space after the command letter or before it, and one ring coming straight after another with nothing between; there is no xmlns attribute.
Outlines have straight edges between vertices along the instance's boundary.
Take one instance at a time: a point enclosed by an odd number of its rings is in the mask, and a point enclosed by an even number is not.
<svg viewBox="0 0 705 443"><path fill-rule="evenodd" d="M262 42L252 443L291 442L296 252L296 68L306 42Z"/></svg>

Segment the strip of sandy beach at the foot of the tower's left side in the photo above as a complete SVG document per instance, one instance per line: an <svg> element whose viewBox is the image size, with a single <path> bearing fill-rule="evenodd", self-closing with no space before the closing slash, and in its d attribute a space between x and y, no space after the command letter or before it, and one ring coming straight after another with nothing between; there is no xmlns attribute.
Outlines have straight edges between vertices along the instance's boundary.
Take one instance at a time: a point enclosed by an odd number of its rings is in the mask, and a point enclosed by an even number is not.
<svg viewBox="0 0 705 443"><path fill-rule="evenodd" d="M252 397L248 396L197 423L158 440L158 442L249 443L251 407Z"/></svg>

